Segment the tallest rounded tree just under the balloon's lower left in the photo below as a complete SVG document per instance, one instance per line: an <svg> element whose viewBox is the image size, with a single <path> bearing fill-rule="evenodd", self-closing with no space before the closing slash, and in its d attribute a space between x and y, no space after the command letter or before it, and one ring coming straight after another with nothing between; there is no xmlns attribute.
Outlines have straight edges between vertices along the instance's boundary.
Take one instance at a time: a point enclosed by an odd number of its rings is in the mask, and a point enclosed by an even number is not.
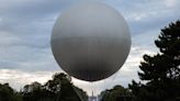
<svg viewBox="0 0 180 101"><path fill-rule="evenodd" d="M59 101L80 101L75 86L71 83L71 78L68 75L55 74L53 76L53 82L54 85L49 85L49 87L57 94L56 99L59 99Z"/></svg>

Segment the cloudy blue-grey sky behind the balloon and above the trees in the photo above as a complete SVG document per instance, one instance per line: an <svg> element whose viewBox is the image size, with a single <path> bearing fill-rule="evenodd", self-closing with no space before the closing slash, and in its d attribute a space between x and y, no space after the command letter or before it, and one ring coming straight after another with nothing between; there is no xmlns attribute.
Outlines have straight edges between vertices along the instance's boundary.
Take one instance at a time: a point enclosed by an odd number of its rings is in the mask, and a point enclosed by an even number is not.
<svg viewBox="0 0 180 101"><path fill-rule="evenodd" d="M82 0L0 0L0 82L21 89L32 81L45 82L61 71L50 50L50 34L60 12ZM85 1L85 0L83 0ZM99 82L74 83L91 93L138 80L142 56L156 54L159 30L180 20L179 0L99 0L119 10L128 23L132 49L124 66Z"/></svg>

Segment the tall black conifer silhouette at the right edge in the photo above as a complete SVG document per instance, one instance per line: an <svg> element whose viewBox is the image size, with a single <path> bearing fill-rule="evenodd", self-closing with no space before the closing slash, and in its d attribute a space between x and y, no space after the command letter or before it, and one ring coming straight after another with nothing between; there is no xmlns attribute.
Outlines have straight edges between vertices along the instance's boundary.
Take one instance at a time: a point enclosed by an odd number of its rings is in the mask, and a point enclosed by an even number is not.
<svg viewBox="0 0 180 101"><path fill-rule="evenodd" d="M176 101L180 100L180 21L161 30L155 41L160 53L144 55L138 72L139 79L130 88L135 101Z"/></svg>

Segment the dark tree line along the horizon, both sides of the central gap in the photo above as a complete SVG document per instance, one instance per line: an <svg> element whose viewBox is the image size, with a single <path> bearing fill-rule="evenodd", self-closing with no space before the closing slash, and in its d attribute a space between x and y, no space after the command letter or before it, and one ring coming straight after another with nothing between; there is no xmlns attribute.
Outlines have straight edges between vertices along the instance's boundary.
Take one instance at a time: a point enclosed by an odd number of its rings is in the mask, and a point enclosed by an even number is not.
<svg viewBox="0 0 180 101"><path fill-rule="evenodd" d="M180 21L161 30L155 45L159 52L145 54L135 80L128 88L115 86L101 92L101 101L180 101ZM146 83L142 83L146 81ZM0 101L88 101L87 93L65 74L55 74L41 85L32 82L21 91L0 83Z"/></svg>

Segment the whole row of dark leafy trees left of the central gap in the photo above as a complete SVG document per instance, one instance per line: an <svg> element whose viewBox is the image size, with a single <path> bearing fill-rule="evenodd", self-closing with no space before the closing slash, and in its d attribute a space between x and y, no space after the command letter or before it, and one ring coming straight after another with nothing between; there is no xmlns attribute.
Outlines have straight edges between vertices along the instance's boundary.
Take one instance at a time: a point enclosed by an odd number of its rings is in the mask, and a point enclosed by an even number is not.
<svg viewBox="0 0 180 101"><path fill-rule="evenodd" d="M8 83L0 85L0 101L81 101L82 98L86 101L87 93L75 87L71 78L65 74L55 74L44 85L37 81L25 85L20 92Z"/></svg>

